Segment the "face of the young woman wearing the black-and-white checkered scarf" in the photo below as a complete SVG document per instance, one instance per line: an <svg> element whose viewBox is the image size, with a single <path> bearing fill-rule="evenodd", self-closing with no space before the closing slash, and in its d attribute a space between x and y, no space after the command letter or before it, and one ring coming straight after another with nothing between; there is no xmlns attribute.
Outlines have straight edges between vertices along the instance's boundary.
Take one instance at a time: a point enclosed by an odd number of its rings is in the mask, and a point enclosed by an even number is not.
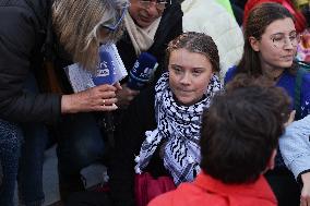
<svg viewBox="0 0 310 206"><path fill-rule="evenodd" d="M213 75L210 60L187 49L177 49L169 58L169 86L177 100L186 106L198 102Z"/></svg>

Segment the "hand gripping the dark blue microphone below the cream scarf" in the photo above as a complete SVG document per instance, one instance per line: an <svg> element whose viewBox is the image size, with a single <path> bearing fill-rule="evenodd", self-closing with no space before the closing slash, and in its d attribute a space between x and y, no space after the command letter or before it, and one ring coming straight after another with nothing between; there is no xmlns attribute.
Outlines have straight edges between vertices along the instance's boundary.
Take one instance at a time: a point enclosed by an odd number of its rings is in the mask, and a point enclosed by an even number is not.
<svg viewBox="0 0 310 206"><path fill-rule="evenodd" d="M121 90L117 92L117 106L120 108L127 108L130 101L140 93L139 90L133 90L123 84Z"/></svg>

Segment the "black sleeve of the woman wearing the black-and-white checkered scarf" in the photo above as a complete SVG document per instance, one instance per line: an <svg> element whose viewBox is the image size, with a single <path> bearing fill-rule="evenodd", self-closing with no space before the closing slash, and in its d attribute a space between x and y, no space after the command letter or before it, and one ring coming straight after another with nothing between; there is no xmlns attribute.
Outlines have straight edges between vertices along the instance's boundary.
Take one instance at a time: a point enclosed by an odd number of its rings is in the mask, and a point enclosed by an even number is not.
<svg viewBox="0 0 310 206"><path fill-rule="evenodd" d="M116 132L116 148L109 168L109 183L115 206L134 206L134 155L145 131L156 128L154 89L143 90L124 111Z"/></svg>

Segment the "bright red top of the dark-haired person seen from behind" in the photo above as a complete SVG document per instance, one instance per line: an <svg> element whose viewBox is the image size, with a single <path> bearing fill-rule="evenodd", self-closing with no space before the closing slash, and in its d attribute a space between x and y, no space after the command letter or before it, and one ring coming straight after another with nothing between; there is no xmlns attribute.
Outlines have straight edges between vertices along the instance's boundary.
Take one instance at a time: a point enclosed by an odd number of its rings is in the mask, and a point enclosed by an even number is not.
<svg viewBox="0 0 310 206"><path fill-rule="evenodd" d="M200 173L192 183L154 198L148 206L276 206L263 175L252 184L228 185Z"/></svg>

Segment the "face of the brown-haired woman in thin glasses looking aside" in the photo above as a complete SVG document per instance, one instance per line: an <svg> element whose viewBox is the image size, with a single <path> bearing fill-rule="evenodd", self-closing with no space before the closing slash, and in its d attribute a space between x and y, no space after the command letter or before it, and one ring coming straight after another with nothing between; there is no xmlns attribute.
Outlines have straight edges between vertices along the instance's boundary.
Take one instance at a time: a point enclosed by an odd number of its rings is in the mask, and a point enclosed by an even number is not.
<svg viewBox="0 0 310 206"><path fill-rule="evenodd" d="M289 68L297 50L298 36L290 17L271 23L260 40L251 44L259 51L263 68Z"/></svg>

